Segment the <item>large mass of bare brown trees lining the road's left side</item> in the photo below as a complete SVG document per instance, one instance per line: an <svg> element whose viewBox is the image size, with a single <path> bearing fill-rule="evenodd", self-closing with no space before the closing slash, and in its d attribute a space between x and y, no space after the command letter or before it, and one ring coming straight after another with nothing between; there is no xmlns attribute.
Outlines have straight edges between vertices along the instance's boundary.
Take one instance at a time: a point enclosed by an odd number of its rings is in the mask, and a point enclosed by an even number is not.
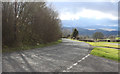
<svg viewBox="0 0 120 74"><path fill-rule="evenodd" d="M61 37L58 13L46 2L3 2L2 45L46 44Z"/></svg>

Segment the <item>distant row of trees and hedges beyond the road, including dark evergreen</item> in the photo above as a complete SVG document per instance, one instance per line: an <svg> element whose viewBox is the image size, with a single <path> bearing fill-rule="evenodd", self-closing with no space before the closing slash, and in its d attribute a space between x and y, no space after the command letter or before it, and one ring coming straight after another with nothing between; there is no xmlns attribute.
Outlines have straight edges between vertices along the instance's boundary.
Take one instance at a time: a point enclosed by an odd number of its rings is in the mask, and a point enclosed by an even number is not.
<svg viewBox="0 0 120 74"><path fill-rule="evenodd" d="M110 40L115 40L116 36L110 35L110 36L105 36L102 32L95 32L93 33L92 36L83 36L79 34L79 31L74 28L73 31L71 32L69 29L63 29L62 31L62 37L65 38L73 38L73 39L79 39L79 40L86 40L86 39L94 39L94 40L98 40L98 39L110 39Z"/></svg>

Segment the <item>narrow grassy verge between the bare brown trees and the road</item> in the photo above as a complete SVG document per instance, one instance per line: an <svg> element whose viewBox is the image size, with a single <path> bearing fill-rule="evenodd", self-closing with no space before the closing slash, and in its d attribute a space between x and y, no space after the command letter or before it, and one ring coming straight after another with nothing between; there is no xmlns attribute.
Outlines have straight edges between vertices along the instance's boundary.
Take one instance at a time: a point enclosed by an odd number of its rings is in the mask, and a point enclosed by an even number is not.
<svg viewBox="0 0 120 74"><path fill-rule="evenodd" d="M39 44L39 45L35 45L35 46L30 46L30 45L23 45L21 47L12 47L12 48L3 48L2 49L2 52L14 52L14 51L21 51L21 50L29 50L29 49L34 49L34 48L42 48L42 47L46 47L46 46L51 46L51 45L55 45L55 44L58 44L58 43L61 43L62 40L58 40L58 41L55 41L55 42L51 42L51 43L47 43L47 44Z"/></svg>

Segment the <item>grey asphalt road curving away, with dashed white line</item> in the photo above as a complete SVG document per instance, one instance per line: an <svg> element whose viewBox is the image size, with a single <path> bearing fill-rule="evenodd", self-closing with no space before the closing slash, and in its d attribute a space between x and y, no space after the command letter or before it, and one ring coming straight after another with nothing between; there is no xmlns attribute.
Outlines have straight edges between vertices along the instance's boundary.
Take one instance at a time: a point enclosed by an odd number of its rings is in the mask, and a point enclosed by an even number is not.
<svg viewBox="0 0 120 74"><path fill-rule="evenodd" d="M62 43L2 55L3 72L118 72L118 63L90 55L84 42Z"/></svg>

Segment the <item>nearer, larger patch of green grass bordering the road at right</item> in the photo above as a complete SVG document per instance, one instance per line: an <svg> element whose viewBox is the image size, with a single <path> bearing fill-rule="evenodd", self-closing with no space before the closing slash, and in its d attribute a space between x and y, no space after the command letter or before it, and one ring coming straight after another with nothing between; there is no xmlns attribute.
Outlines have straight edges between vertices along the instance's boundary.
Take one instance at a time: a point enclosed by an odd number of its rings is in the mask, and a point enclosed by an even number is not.
<svg viewBox="0 0 120 74"><path fill-rule="evenodd" d="M120 62L119 52L120 50L117 49L95 47L90 54Z"/></svg>

